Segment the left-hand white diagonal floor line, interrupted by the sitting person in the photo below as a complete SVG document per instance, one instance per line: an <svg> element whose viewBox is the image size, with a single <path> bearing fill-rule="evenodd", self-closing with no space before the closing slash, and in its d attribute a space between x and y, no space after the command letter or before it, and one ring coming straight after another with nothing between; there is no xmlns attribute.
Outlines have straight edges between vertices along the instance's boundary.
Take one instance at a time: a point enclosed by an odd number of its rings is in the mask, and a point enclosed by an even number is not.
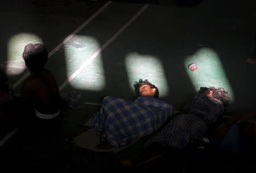
<svg viewBox="0 0 256 173"><path fill-rule="evenodd" d="M56 48L54 48L53 50L51 50L51 52L48 53L48 58L51 57L55 52L57 52L57 50L59 50L63 44L67 43L68 40L72 39L73 36L76 35L77 32L79 32L82 28L84 28L89 22L91 22L94 18L96 18L96 16L98 14L100 14L104 9L106 9L106 7L108 7L110 5L110 3L112 3L112 1L108 1L104 6L102 6L95 14L93 14L92 16L90 16L89 19L87 19L84 23L81 24L81 26L79 28L77 28L74 32L71 33L71 35L69 35L68 37L66 37L64 39L64 41L62 41L59 45L57 45ZM21 77L16 83L14 83L13 85L13 89L16 88L18 85L20 85L20 83L22 83L24 81L24 79L26 79L28 77L30 73L27 72L26 74L23 75L23 77Z"/></svg>

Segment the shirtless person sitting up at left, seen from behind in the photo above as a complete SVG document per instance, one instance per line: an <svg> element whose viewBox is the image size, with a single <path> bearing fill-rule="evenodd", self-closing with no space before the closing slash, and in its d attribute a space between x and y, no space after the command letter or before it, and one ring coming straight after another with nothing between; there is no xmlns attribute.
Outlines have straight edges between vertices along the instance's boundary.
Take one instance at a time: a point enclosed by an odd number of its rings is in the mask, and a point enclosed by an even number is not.
<svg viewBox="0 0 256 173"><path fill-rule="evenodd" d="M23 107L33 109L39 119L53 119L59 115L59 88L51 71L44 69L48 59L43 44L28 44L22 57L30 70L23 83L21 100Z"/></svg>

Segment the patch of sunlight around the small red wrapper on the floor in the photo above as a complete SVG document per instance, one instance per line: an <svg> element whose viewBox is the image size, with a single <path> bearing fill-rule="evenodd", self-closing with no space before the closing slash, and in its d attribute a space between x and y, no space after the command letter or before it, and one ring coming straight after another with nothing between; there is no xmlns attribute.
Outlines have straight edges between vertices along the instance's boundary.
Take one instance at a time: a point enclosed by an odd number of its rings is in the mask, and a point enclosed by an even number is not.
<svg viewBox="0 0 256 173"><path fill-rule="evenodd" d="M189 64L196 64L197 71L188 69ZM202 48L184 61L185 70L193 83L196 91L200 87L223 87L228 91L232 102L234 102L234 93L226 77L224 67L221 64L218 54L210 48Z"/></svg>

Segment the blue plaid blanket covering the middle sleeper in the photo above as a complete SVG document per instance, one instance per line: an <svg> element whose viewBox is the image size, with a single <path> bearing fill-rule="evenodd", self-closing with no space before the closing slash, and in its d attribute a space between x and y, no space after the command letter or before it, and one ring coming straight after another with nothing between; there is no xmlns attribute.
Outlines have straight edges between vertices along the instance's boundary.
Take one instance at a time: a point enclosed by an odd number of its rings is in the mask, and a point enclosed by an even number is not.
<svg viewBox="0 0 256 173"><path fill-rule="evenodd" d="M171 116L172 106L161 100L139 97L134 102L106 96L101 111L93 115L96 134L118 147L158 130Z"/></svg>

